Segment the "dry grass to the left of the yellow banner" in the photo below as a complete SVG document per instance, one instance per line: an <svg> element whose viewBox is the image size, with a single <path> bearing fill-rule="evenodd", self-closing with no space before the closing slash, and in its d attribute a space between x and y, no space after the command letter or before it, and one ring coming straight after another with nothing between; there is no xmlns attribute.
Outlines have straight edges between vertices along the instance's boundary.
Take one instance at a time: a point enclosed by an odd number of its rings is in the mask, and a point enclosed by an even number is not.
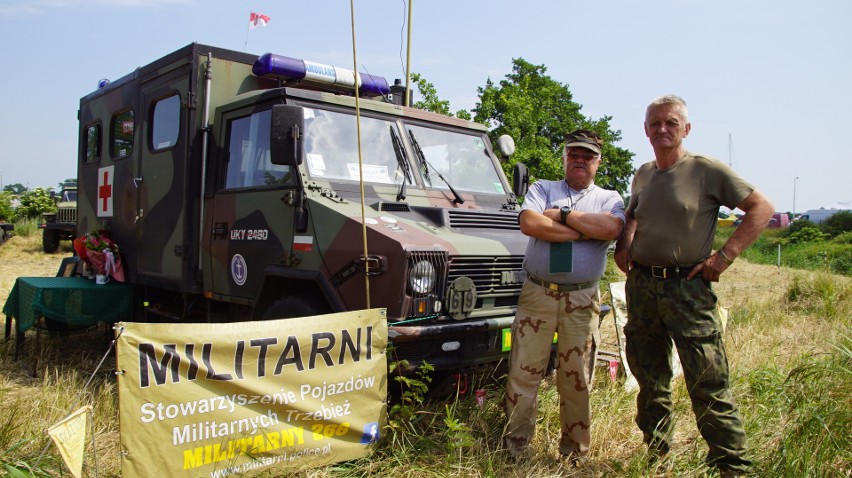
<svg viewBox="0 0 852 478"><path fill-rule="evenodd" d="M13 237L0 247L0 298L5 302L17 277L55 275L62 258L71 254L68 241L63 241L56 253L45 254L40 234ZM15 440L0 441L0 457L17 440L25 440L15 455L34 465L49 443L45 430L82 405L91 404L95 407L98 468L112 470L112 476L117 476L118 396L110 377L114 365L109 366L114 359L110 358L107 367L99 371L88 390L83 387L106 351L103 330L74 335L72 340L45 340L39 355L39 377L32 376L33 335L33 331L28 331L26 347L17 361L13 358L13 340L0 347L0 417L15 417L14 432L9 435ZM44 365L46 359L49 365ZM2 422L0 419L0 427ZM3 438L0 434L0 440ZM59 469L57 459L56 450L50 445L41 458L41 466ZM91 456L87 457L91 464L89 460Z"/></svg>

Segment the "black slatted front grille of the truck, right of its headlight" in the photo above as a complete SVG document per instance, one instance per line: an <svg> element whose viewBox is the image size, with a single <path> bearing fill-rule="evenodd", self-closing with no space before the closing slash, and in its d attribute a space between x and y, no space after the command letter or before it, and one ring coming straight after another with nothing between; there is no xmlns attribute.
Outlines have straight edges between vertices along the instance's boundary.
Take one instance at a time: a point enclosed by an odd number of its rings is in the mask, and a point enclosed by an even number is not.
<svg viewBox="0 0 852 478"><path fill-rule="evenodd" d="M523 264L524 256L453 256L448 282L469 277L476 285L477 298L510 297L517 303L524 284ZM511 299L501 302L505 304Z"/></svg>

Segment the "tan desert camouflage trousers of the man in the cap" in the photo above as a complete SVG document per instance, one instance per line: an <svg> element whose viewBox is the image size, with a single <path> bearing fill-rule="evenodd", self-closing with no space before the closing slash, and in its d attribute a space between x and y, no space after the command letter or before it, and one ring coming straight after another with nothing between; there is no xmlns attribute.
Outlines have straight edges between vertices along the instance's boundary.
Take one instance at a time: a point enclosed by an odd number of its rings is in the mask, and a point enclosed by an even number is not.
<svg viewBox="0 0 852 478"><path fill-rule="evenodd" d="M554 332L562 435L559 452L585 455L591 444L589 390L595 365L600 292L597 287L554 292L524 283L512 323L512 349L506 382L508 423L504 446L526 448L535 433L537 396L547 371Z"/></svg>

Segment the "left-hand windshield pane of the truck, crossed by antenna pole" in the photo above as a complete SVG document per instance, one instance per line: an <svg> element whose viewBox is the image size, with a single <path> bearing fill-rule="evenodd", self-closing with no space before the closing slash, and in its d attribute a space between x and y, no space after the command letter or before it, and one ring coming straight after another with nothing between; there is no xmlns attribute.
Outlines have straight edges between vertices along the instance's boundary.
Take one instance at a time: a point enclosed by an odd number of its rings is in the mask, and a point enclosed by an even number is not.
<svg viewBox="0 0 852 478"><path fill-rule="evenodd" d="M304 111L305 162L311 178L360 180L355 116L314 108ZM405 178L392 128L396 128L393 121L361 117L364 181L401 184Z"/></svg>

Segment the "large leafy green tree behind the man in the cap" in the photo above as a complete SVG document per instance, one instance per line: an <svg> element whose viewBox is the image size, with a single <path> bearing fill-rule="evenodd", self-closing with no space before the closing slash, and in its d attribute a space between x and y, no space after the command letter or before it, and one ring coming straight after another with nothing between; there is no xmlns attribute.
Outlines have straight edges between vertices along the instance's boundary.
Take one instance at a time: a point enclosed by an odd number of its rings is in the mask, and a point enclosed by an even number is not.
<svg viewBox="0 0 852 478"><path fill-rule="evenodd" d="M560 179L565 176L562 150L565 134L584 128L604 138L603 162L595 184L627 191L633 174L633 153L614 146L621 131L612 130L611 116L594 119L580 111L567 85L553 80L544 65L523 58L512 60L512 73L495 84L490 78L477 89L480 102L473 109L474 121L487 124L492 142L503 134L515 140L516 150L503 168L509 173L514 163L526 164L530 179Z"/></svg>

